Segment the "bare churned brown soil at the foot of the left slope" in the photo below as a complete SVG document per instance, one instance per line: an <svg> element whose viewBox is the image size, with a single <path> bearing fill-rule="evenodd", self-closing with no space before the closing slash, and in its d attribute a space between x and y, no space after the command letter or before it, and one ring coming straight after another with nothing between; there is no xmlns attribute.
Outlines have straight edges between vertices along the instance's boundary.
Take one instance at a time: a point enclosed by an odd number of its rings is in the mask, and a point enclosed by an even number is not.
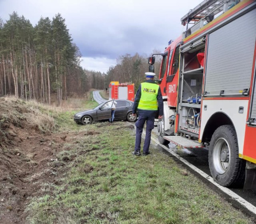
<svg viewBox="0 0 256 224"><path fill-rule="evenodd" d="M0 154L0 223L24 223L30 198L40 196L42 183L58 184L59 171L64 171L56 153L70 136L42 135L24 126L10 127L13 149Z"/></svg>

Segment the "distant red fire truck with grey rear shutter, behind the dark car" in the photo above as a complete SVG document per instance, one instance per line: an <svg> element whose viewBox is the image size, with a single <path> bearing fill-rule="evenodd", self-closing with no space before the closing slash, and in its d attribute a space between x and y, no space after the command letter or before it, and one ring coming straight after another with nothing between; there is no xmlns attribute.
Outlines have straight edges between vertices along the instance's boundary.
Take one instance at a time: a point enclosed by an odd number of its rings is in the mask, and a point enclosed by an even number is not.
<svg viewBox="0 0 256 224"><path fill-rule="evenodd" d="M128 99L134 101L134 83L110 82L109 97L110 99Z"/></svg>

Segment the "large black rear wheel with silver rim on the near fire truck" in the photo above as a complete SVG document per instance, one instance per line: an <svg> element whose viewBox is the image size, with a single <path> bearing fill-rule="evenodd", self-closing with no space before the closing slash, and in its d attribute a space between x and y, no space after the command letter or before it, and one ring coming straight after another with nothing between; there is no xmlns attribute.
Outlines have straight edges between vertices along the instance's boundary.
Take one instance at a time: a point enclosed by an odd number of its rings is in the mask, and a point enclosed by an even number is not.
<svg viewBox="0 0 256 224"><path fill-rule="evenodd" d="M210 141L208 160L212 178L226 187L242 187L245 161L240 159L236 131L232 125L218 127Z"/></svg>

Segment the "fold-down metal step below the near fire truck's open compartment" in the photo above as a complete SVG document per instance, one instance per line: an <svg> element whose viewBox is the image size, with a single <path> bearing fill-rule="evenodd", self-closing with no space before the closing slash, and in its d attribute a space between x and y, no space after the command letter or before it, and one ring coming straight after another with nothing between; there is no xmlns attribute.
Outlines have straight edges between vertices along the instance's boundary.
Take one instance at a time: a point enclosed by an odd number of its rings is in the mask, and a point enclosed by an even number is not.
<svg viewBox="0 0 256 224"><path fill-rule="evenodd" d="M198 143L197 141L190 140L181 136L164 136L164 139L182 148L204 148L205 147L204 145Z"/></svg>

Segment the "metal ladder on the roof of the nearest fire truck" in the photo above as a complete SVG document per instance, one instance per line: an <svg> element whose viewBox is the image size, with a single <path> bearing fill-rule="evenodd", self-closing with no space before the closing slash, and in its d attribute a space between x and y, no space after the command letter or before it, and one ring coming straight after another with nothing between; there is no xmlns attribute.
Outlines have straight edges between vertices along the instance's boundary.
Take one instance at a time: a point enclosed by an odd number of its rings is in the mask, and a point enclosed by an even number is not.
<svg viewBox="0 0 256 224"><path fill-rule="evenodd" d="M205 21L211 22L214 16L221 12L226 12L238 2L240 0L204 0L180 19L182 25L185 26L187 24L187 29L183 33L182 39L202 28L205 25ZM194 26L188 28L188 24L194 24Z"/></svg>

